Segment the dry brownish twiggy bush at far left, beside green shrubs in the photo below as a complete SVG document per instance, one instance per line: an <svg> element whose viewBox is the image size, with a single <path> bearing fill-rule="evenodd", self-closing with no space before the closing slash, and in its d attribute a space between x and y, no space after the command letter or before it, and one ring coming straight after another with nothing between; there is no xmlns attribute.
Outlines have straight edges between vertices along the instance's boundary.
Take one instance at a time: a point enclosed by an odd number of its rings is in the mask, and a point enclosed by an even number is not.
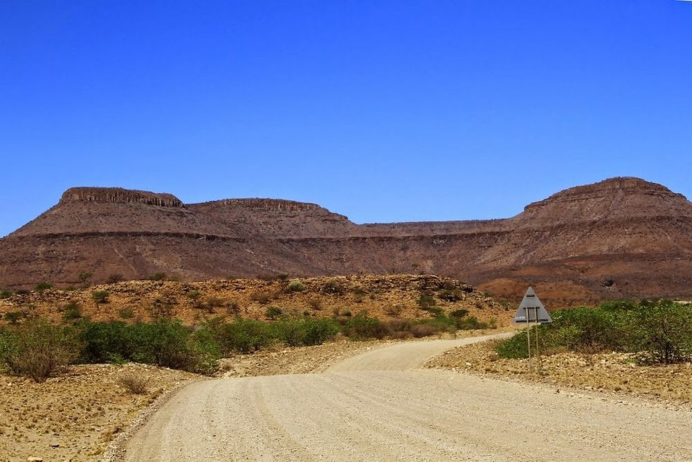
<svg viewBox="0 0 692 462"><path fill-rule="evenodd" d="M6 337L5 362L10 371L45 382L78 355L78 344L66 328L33 319Z"/></svg>

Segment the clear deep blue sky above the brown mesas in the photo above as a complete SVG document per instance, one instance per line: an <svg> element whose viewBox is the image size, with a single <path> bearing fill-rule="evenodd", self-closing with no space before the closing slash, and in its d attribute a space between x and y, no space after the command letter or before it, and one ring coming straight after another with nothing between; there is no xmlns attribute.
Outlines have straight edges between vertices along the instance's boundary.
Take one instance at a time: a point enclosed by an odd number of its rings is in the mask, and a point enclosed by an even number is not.
<svg viewBox="0 0 692 462"><path fill-rule="evenodd" d="M2 1L0 157L0 236L71 186L355 222L692 197L692 1Z"/></svg>

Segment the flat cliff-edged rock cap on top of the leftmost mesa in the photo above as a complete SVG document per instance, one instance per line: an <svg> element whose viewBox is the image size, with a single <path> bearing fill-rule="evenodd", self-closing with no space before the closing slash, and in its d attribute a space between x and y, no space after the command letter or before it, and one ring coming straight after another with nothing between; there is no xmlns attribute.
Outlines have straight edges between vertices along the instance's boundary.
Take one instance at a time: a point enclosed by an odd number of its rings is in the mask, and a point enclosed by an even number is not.
<svg viewBox="0 0 692 462"><path fill-rule="evenodd" d="M172 194L151 193L124 188L80 187L66 190L60 204L69 202L99 202L102 204L147 204L159 207L183 207L185 204Z"/></svg>

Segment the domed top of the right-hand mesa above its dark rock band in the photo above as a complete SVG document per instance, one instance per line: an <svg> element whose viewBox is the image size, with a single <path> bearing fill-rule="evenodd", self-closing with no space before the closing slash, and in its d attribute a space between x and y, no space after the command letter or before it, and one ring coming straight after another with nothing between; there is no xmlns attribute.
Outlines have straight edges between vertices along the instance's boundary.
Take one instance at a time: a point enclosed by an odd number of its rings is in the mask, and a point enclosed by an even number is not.
<svg viewBox="0 0 692 462"><path fill-rule="evenodd" d="M599 220L692 217L686 197L639 178L617 177L576 186L527 205L516 226L554 226Z"/></svg>

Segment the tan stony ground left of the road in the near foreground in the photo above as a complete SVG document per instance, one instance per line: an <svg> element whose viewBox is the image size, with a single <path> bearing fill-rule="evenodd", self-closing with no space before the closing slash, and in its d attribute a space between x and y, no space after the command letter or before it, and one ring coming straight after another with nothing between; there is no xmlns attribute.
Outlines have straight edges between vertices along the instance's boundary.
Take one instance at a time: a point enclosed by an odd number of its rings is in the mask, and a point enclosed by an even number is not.
<svg viewBox="0 0 692 462"><path fill-rule="evenodd" d="M147 392L130 393L125 375L149 378ZM141 409L196 378L145 364L71 366L40 384L0 374L0 461L94 461Z"/></svg>

